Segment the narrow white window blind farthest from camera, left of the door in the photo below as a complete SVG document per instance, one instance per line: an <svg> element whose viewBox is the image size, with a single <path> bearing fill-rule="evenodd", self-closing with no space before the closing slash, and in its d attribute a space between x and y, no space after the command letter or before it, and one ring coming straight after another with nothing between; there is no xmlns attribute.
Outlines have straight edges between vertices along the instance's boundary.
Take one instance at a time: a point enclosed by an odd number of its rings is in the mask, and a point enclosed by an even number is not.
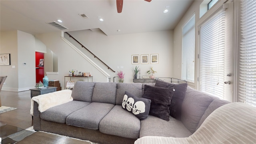
<svg viewBox="0 0 256 144"><path fill-rule="evenodd" d="M195 14L182 27L182 80L194 82Z"/></svg>

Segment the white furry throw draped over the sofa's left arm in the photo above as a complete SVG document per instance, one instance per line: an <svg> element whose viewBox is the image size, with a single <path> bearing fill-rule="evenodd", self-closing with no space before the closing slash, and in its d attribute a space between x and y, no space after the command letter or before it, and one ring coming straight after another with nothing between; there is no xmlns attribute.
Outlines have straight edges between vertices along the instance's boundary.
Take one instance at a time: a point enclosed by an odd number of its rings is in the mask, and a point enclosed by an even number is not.
<svg viewBox="0 0 256 144"><path fill-rule="evenodd" d="M33 116L34 111L34 101L38 103L38 110L44 112L49 108L70 102L73 100L72 90L60 90L56 92L51 92L48 94L41 94L39 96L34 96L31 99L31 109L30 114Z"/></svg>

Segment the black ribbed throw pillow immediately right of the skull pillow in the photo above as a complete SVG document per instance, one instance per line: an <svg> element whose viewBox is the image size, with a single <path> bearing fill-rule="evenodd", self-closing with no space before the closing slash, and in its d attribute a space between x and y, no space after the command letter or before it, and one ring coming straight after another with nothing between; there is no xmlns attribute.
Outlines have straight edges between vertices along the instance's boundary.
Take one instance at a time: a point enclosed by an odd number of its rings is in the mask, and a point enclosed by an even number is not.
<svg viewBox="0 0 256 144"><path fill-rule="evenodd" d="M171 88L145 85L142 98L151 100L149 114L169 121L172 93Z"/></svg>

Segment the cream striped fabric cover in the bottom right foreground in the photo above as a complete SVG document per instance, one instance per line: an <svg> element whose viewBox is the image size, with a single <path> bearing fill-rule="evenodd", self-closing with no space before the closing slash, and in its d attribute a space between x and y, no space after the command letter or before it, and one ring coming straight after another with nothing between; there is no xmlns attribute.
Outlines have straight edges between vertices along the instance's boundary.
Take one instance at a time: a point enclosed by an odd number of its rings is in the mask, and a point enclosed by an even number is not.
<svg viewBox="0 0 256 144"><path fill-rule="evenodd" d="M214 110L188 138L144 136L134 144L255 144L256 107L229 103Z"/></svg>

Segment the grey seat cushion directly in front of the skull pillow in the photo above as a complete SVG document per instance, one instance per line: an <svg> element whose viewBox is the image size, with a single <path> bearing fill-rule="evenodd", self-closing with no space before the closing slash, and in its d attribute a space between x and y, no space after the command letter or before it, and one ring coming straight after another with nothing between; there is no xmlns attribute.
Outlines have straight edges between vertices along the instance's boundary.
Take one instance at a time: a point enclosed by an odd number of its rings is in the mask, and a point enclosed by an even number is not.
<svg viewBox="0 0 256 144"><path fill-rule="evenodd" d="M122 106L116 105L100 121L100 132L136 139L140 135L140 120Z"/></svg>

